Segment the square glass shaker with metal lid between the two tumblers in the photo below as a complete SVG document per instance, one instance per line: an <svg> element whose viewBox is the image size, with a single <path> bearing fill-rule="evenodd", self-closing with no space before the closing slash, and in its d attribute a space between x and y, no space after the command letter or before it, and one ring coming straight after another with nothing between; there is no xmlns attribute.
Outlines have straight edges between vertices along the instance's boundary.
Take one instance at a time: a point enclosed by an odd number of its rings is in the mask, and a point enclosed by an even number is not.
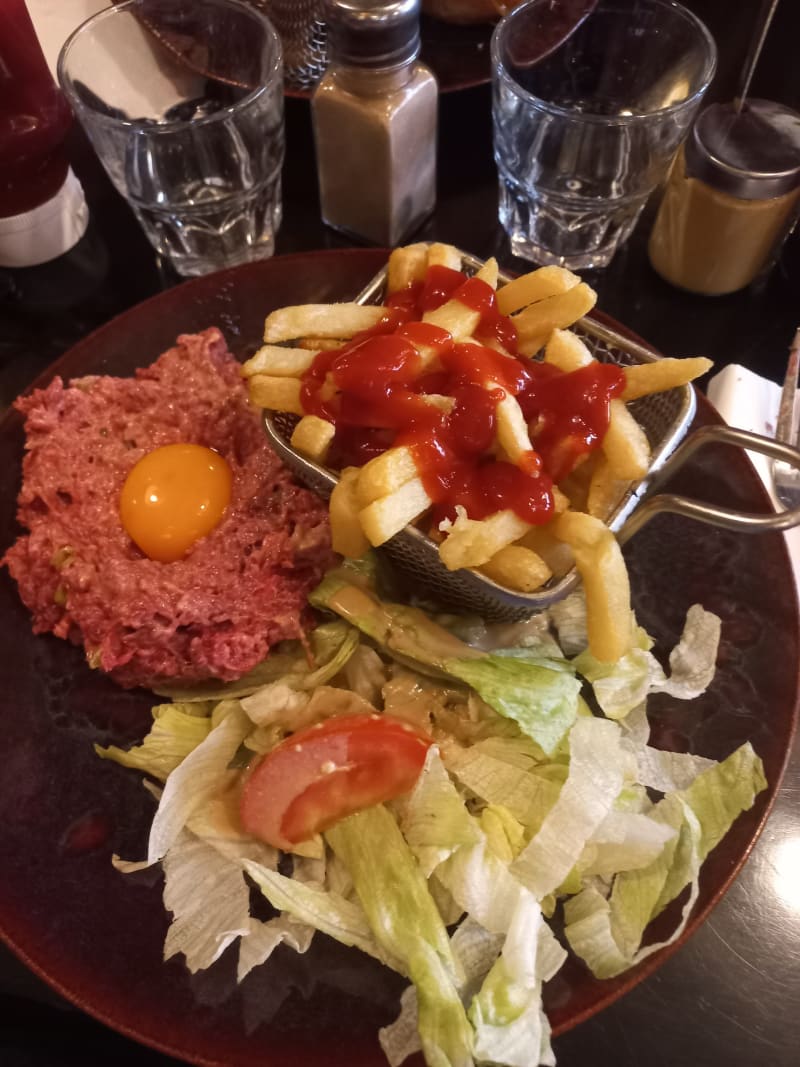
<svg viewBox="0 0 800 1067"><path fill-rule="evenodd" d="M331 66L311 99L322 219L398 244L436 198L436 79L419 0L329 0Z"/></svg>

